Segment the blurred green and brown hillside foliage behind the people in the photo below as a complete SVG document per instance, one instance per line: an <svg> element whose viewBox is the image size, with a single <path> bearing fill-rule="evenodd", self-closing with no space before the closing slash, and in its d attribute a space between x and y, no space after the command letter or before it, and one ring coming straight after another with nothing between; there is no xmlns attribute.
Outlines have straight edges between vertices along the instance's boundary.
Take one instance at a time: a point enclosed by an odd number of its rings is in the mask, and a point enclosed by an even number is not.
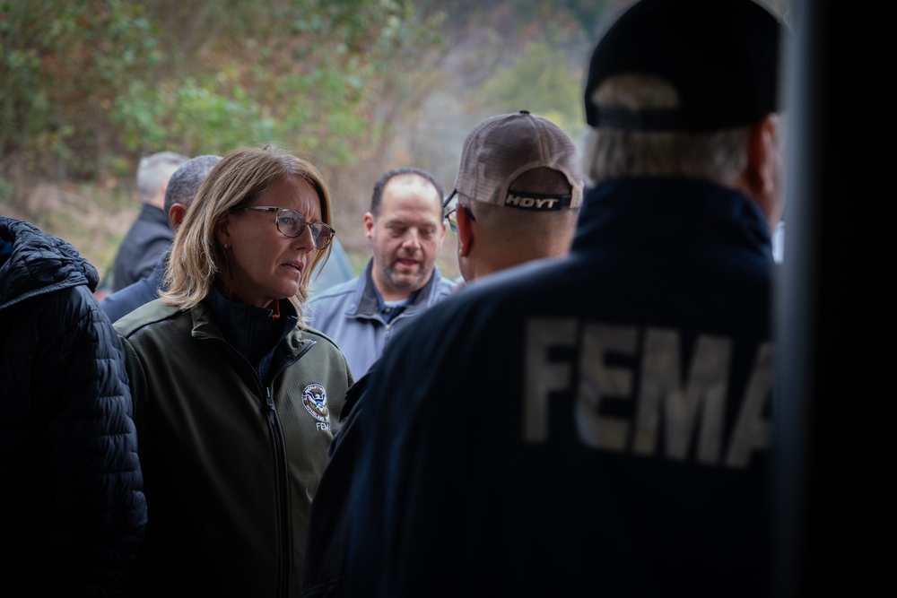
<svg viewBox="0 0 897 598"><path fill-rule="evenodd" d="M524 108L579 143L588 55L626 4L0 0L0 213L102 273L139 211L142 156L276 143L324 173L357 272L384 170L430 170L448 192L467 132Z"/></svg>

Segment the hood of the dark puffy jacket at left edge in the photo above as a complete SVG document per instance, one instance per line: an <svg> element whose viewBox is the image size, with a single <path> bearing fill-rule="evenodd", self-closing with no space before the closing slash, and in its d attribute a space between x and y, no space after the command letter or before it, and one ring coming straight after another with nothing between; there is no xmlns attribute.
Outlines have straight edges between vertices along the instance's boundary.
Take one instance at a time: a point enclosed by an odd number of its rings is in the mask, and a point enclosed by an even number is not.
<svg viewBox="0 0 897 598"><path fill-rule="evenodd" d="M40 293L86 284L93 292L100 274L70 243L30 222L0 216L0 309Z"/></svg>

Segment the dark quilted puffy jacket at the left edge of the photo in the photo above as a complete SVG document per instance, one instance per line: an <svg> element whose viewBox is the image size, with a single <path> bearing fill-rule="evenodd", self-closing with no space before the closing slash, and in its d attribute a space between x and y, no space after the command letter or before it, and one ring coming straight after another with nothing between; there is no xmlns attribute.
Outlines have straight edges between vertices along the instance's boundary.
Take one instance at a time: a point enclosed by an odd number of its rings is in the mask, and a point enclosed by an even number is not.
<svg viewBox="0 0 897 598"><path fill-rule="evenodd" d="M98 278L62 239L0 216L0 580L19 595L117 595L143 538L124 352Z"/></svg>

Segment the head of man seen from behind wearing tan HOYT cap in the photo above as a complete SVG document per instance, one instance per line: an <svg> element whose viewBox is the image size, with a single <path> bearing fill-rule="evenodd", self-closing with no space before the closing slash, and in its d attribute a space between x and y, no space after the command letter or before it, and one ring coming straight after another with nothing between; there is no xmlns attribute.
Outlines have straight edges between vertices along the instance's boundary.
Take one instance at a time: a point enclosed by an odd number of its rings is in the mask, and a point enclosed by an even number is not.
<svg viewBox="0 0 897 598"><path fill-rule="evenodd" d="M483 120L467 135L443 202L465 282L570 250L582 176L576 144L527 110Z"/></svg>

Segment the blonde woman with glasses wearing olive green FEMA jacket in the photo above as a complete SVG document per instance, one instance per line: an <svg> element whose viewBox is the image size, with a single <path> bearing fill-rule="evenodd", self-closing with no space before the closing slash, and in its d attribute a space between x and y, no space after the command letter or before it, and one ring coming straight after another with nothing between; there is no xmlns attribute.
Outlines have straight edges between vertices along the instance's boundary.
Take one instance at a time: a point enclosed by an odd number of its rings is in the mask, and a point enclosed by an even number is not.
<svg viewBox="0 0 897 598"><path fill-rule="evenodd" d="M331 413L353 383L303 318L331 219L308 161L231 152L177 232L169 290L118 321L149 511L130 594L300 594Z"/></svg>

